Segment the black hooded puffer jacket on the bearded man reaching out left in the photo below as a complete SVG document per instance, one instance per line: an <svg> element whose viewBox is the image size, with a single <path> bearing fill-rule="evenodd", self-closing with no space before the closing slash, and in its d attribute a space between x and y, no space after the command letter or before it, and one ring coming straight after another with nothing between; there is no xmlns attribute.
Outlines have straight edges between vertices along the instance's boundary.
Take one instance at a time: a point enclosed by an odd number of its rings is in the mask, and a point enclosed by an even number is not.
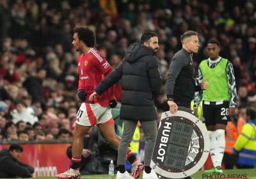
<svg viewBox="0 0 256 179"><path fill-rule="evenodd" d="M132 44L125 58L95 89L101 95L122 79L122 120L157 120L154 98L160 91L163 79L153 51L145 45Z"/></svg>

